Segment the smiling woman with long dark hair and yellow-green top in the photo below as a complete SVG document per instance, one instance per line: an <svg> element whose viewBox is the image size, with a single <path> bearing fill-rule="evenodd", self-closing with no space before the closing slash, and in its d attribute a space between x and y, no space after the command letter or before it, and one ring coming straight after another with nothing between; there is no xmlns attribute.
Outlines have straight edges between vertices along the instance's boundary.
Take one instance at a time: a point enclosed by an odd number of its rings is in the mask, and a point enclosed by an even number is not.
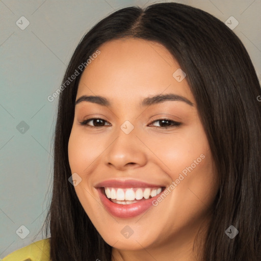
<svg viewBox="0 0 261 261"><path fill-rule="evenodd" d="M39 260L261 259L260 86L223 22L177 3L116 11L59 93Z"/></svg>

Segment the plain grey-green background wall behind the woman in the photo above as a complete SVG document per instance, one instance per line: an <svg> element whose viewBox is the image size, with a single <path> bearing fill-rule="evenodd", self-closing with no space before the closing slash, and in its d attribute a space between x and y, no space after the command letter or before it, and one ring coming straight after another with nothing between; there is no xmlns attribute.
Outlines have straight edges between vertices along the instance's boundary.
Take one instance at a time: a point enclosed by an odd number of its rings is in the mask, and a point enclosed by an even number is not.
<svg viewBox="0 0 261 261"><path fill-rule="evenodd" d="M239 25L233 31L246 46L260 80L260 0L174 2L200 8L223 22L230 16L236 18ZM0 257L42 239L41 234L36 235L50 200L58 101L49 102L47 96L60 87L74 48L108 14L152 3L155 1L0 0ZM25 30L16 25L21 16L30 21ZM21 121L29 129L22 129ZM30 230L24 239L16 233L21 225ZM21 235L26 232L19 231Z"/></svg>

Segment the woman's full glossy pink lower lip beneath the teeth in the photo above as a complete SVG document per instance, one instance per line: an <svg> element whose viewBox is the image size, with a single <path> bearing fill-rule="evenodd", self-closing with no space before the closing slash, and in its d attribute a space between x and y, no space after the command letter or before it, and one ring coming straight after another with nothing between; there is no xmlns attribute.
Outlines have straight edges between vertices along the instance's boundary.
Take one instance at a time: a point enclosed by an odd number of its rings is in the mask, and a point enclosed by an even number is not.
<svg viewBox="0 0 261 261"><path fill-rule="evenodd" d="M156 198L153 197L133 204L122 205L112 202L101 190L101 188L98 189L101 203L110 214L118 218L134 218L141 215L152 206L152 201ZM160 196L160 194L157 196Z"/></svg>

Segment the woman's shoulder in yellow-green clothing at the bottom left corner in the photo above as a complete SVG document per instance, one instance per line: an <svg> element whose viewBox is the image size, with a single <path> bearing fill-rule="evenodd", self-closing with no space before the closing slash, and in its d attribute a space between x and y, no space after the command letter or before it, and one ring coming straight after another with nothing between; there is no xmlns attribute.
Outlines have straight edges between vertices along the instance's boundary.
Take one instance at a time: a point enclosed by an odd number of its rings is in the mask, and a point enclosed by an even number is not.
<svg viewBox="0 0 261 261"><path fill-rule="evenodd" d="M18 249L4 257L2 261L49 261L49 253L50 245L48 238Z"/></svg>

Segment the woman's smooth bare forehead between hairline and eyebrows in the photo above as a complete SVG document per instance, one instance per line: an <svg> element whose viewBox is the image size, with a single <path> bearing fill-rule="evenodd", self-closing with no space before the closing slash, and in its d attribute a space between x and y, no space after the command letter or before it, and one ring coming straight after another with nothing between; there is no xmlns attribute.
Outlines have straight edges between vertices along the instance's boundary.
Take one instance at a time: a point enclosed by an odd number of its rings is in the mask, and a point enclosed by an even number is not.
<svg viewBox="0 0 261 261"><path fill-rule="evenodd" d="M181 82L173 77L180 67L162 44L125 38L106 42L98 49L100 54L81 76L76 98L102 95L116 99L121 95L126 100L172 92L194 102L186 77Z"/></svg>

